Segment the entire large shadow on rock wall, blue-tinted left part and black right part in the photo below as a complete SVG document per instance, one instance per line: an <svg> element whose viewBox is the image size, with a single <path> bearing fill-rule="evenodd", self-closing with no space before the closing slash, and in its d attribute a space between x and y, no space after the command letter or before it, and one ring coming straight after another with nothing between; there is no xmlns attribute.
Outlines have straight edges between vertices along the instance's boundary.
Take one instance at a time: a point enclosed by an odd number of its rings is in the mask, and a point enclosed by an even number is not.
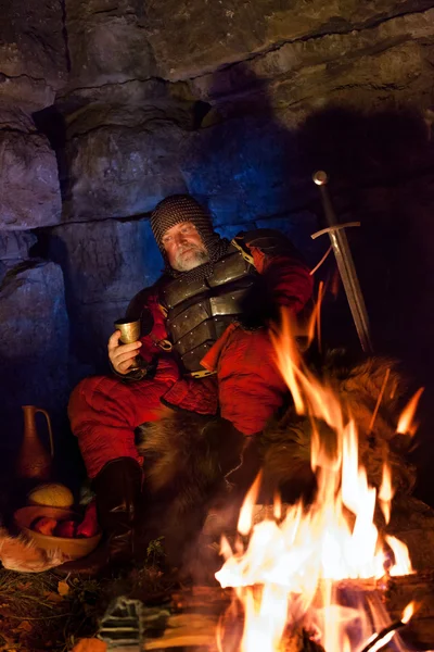
<svg viewBox="0 0 434 652"><path fill-rule="evenodd" d="M237 74L237 78L232 75ZM419 111L367 113L329 106L299 129L277 118L265 83L237 66L215 75L212 115L186 156L190 191L207 201L218 229L228 237L242 228L269 226L285 233L314 265L329 246L310 234L326 226L311 181L326 170L340 222L348 229L372 328L375 354L401 363L409 392L425 386L421 427L413 453L420 467L419 494L434 504L430 485L434 446L434 136ZM219 116L219 117L218 117ZM220 122L218 122L220 121ZM330 256L316 280L335 275ZM332 285L332 284L330 284ZM327 294L323 340L359 350L342 287Z"/></svg>

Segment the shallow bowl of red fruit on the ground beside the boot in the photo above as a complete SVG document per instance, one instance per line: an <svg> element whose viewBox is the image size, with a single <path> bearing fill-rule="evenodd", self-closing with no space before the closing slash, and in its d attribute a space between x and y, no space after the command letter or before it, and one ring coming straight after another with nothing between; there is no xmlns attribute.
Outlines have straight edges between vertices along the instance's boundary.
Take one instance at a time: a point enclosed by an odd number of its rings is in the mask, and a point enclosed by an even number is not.
<svg viewBox="0 0 434 652"><path fill-rule="evenodd" d="M74 510L30 505L17 510L15 523L21 531L38 548L60 550L65 557L78 560L94 550L101 531L89 505L85 517Z"/></svg>

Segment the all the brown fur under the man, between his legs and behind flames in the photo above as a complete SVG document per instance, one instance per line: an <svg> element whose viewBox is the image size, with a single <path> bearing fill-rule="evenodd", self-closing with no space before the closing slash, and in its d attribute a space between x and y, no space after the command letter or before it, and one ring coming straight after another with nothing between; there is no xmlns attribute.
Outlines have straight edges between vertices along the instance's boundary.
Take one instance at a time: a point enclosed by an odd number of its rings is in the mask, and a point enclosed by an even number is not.
<svg viewBox="0 0 434 652"><path fill-rule="evenodd" d="M396 363L369 358L348 364L342 353L331 352L322 361L320 374L337 392L345 414L356 422L359 463L367 468L370 484L380 486L383 462L387 460L394 486L408 492L414 482L414 469L405 457L406 438L396 435L398 404L406 389ZM386 374L388 379L371 429ZM321 422L316 427L324 446L333 448L334 431ZM272 496L276 489L286 502L311 496L315 490L310 469L311 428L310 421L297 416L289 405L260 434L266 496ZM240 463L239 437L228 422L221 427L221 419L188 412L174 412L161 422L139 428L137 444L146 461L148 491L151 502L158 505L156 512L165 514L165 536L200 527L209 505L227 490L226 473Z"/></svg>

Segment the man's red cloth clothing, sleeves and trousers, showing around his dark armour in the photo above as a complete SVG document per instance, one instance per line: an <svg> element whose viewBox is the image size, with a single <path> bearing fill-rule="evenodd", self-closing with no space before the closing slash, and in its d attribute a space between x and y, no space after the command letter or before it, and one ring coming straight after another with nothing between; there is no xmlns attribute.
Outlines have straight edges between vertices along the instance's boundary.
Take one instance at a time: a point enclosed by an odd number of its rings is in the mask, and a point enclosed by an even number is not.
<svg viewBox="0 0 434 652"><path fill-rule="evenodd" d="M291 254L271 256L255 247L250 252L276 305L298 313L312 291L306 265ZM237 324L228 327L201 363L215 375L181 377L174 359L162 353L157 344L167 337L157 285L150 289L145 304L154 326L142 338L140 354L146 362L158 354L155 376L128 383L118 376L93 376L81 380L71 397L72 429L91 478L116 457L131 456L141 462L135 447L135 428L161 418L164 405L209 415L219 410L222 417L248 436L264 428L288 391L276 367L267 330L245 330Z"/></svg>

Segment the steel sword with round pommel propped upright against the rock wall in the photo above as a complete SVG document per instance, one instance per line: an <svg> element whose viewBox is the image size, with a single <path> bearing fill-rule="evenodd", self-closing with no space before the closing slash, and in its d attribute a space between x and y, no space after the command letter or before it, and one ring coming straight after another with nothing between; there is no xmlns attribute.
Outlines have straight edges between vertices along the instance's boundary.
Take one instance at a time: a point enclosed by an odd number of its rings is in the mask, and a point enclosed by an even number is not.
<svg viewBox="0 0 434 652"><path fill-rule="evenodd" d="M352 311L353 321L356 326L361 348L365 353L372 353L368 313L345 233L345 228L348 226L360 226L360 223L349 222L347 224L340 224L334 213L327 188L329 178L326 172L316 172L312 176L312 179L314 183L319 186L322 208L324 210L326 220L329 226L328 228L314 234L311 238L315 239L322 234L329 234L334 258L336 259L337 263L337 269L341 276L342 285L344 286L346 298L348 300L349 310Z"/></svg>

